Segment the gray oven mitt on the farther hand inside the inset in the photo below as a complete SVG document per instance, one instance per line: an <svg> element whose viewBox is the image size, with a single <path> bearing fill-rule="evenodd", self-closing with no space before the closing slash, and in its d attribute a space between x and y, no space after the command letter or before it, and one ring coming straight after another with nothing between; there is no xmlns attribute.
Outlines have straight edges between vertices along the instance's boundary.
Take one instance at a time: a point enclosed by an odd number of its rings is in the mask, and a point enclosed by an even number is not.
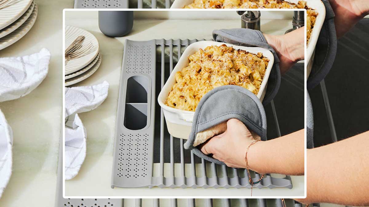
<svg viewBox="0 0 369 207"><path fill-rule="evenodd" d="M267 105L275 97L280 86L279 58L267 42L261 31L254 29L220 29L213 31L213 39L216 42L226 42L241 46L256 46L270 50L274 56L274 66L270 72L268 86L266 88L263 105Z"/></svg>

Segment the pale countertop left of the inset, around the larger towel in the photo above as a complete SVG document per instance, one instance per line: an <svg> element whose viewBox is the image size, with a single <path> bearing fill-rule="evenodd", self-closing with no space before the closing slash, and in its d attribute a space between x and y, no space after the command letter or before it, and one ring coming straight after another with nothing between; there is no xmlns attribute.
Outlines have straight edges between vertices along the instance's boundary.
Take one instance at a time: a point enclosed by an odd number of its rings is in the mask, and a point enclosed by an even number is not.
<svg viewBox="0 0 369 207"><path fill-rule="evenodd" d="M68 0L36 0L38 17L20 41L0 50L1 57L23 56L47 48L49 73L30 94L0 103L13 129L13 174L1 207L51 207L55 202L59 138L62 130L62 8Z"/></svg>

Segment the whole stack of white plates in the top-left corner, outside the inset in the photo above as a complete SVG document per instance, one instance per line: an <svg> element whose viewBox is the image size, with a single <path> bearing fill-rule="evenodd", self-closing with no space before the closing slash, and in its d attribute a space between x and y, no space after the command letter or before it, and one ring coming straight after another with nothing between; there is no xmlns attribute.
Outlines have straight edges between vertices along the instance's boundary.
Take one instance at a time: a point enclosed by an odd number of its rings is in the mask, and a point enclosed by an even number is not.
<svg viewBox="0 0 369 207"><path fill-rule="evenodd" d="M35 0L10 0L0 9L0 50L20 40L37 18Z"/></svg>

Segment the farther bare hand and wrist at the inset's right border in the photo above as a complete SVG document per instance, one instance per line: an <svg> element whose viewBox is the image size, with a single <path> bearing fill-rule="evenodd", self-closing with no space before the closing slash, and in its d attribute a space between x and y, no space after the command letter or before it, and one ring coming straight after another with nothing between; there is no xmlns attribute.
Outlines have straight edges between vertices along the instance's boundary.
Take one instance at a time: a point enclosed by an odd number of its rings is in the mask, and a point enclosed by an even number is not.
<svg viewBox="0 0 369 207"><path fill-rule="evenodd" d="M283 75L299 60L304 59L304 29L296 29L285 35L264 34L266 41L276 51L279 58L279 69Z"/></svg>

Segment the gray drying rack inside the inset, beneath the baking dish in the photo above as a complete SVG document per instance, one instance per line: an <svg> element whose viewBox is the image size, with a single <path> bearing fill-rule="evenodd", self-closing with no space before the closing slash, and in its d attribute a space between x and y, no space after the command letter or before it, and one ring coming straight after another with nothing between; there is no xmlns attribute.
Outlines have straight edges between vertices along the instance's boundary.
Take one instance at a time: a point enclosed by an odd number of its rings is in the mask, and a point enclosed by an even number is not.
<svg viewBox="0 0 369 207"><path fill-rule="evenodd" d="M168 133L156 101L184 49L197 41L200 40L125 41L112 188L251 187L246 169L217 165L185 150L185 140ZM253 180L259 178L258 173L253 173ZM290 176L275 178L267 174L254 187L291 189L292 180Z"/></svg>

